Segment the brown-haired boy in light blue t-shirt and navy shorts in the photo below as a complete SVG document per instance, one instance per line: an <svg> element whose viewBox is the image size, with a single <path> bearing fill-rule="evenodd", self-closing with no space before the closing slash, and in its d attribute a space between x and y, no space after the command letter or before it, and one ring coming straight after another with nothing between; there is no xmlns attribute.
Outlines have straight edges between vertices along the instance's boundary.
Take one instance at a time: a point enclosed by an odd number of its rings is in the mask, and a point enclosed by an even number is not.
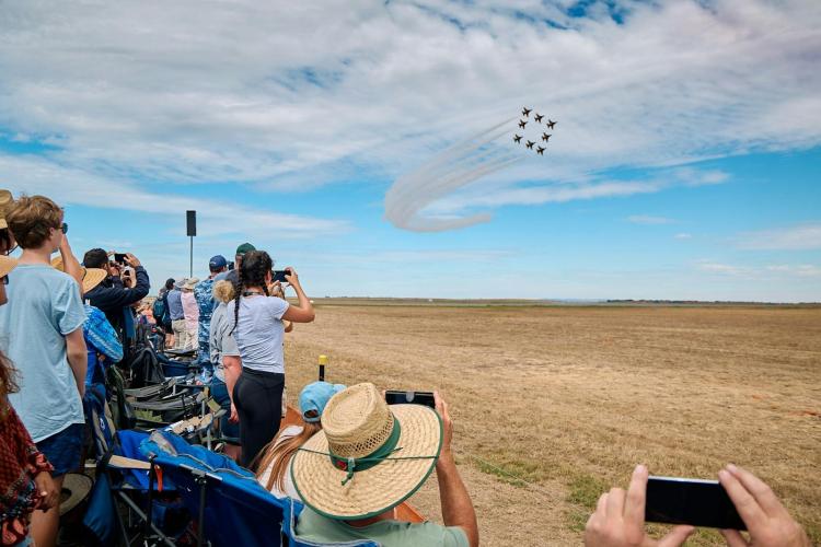
<svg viewBox="0 0 821 547"><path fill-rule="evenodd" d="M62 477L80 464L84 438L85 310L77 281L49 264L67 229L62 209L46 197L24 196L7 220L23 248L9 274L9 304L0 307L0 340L20 371L20 391L9 400L54 466L59 490ZM58 509L35 511L35 543L55 545L58 525Z"/></svg>

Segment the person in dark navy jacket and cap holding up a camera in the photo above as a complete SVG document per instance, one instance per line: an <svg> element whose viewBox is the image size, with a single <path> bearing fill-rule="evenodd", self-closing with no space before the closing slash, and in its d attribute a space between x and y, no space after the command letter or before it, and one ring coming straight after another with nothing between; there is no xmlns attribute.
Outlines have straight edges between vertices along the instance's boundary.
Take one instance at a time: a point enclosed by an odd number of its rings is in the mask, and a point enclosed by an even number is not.
<svg viewBox="0 0 821 547"><path fill-rule="evenodd" d="M130 314L132 324L131 304L146 298L151 289L148 272L140 260L130 253L122 255L122 258L123 264L116 260L109 261L108 253L102 248L92 248L83 256L83 266L86 268L102 268L108 271L108 277L89 291L85 299L108 317L108 322L120 336L128 324L128 317L125 314ZM134 287L127 287L123 280L123 270L126 265L134 269Z"/></svg>

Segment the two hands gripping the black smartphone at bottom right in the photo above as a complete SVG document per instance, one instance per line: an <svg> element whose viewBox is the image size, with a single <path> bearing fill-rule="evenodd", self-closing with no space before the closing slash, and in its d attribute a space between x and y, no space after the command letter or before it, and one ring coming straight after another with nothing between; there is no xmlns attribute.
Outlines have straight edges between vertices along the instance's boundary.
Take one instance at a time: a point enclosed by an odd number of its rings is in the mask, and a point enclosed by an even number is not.
<svg viewBox="0 0 821 547"><path fill-rule="evenodd" d="M601 494L595 512L585 527L588 547L659 546L678 547L694 532L693 526L675 526L659 540L645 532L647 467L637 465L625 492L613 488ZM750 539L737 529L722 529L730 547L810 547L801 526L789 515L773 490L752 473L728 465L718 472L718 481L727 491L739 516L747 525Z"/></svg>

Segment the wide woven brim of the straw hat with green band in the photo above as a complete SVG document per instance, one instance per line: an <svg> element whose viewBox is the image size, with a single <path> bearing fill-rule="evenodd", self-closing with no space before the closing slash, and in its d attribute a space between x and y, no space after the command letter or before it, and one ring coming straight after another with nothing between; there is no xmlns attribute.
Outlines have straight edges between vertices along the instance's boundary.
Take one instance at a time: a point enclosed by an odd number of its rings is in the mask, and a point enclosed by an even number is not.
<svg viewBox="0 0 821 547"><path fill-rule="evenodd" d="M347 473L336 468L326 455L324 431L302 445L304 450L293 456L291 478L307 505L329 519L357 521L398 505L419 489L442 447L441 419L432 408L421 405L391 405L391 410L402 427L396 443L401 450L370 469L355 473L345 485L342 482Z"/></svg>

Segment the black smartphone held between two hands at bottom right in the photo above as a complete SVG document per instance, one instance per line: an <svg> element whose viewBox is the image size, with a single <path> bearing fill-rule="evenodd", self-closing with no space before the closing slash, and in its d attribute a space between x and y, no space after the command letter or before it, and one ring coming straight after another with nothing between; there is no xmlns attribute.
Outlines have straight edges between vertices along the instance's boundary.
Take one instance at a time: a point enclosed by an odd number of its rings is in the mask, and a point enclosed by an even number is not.
<svg viewBox="0 0 821 547"><path fill-rule="evenodd" d="M747 529L736 505L717 480L650 476L645 521Z"/></svg>

